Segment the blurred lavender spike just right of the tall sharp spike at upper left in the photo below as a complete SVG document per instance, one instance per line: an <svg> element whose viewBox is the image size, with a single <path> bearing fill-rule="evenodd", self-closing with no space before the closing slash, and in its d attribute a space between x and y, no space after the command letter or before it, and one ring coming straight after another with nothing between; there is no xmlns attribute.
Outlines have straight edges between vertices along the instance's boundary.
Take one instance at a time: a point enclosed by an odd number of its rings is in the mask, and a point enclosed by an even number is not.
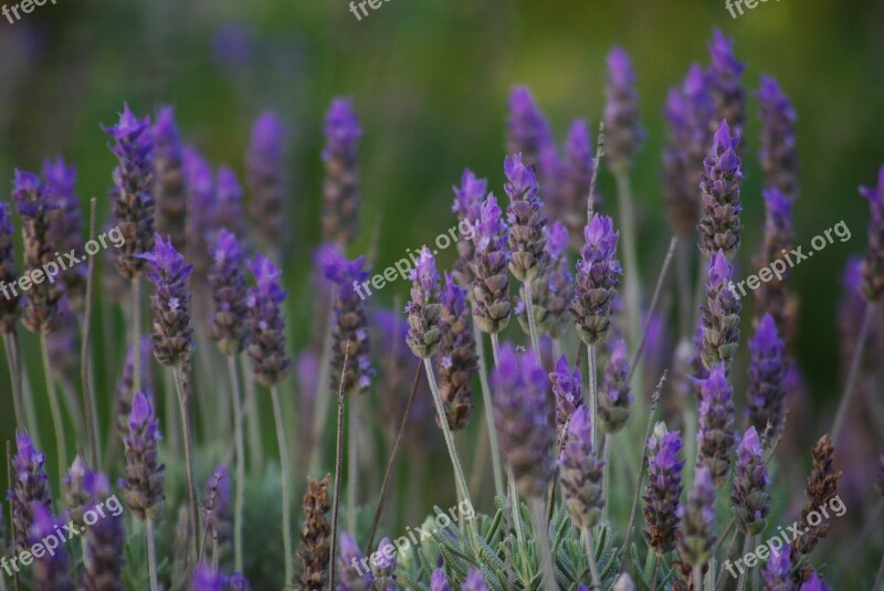
<svg viewBox="0 0 884 591"><path fill-rule="evenodd" d="M176 250L183 252L187 242L187 184L181 135L172 107L157 114L154 136L154 201L157 232L171 236Z"/></svg>

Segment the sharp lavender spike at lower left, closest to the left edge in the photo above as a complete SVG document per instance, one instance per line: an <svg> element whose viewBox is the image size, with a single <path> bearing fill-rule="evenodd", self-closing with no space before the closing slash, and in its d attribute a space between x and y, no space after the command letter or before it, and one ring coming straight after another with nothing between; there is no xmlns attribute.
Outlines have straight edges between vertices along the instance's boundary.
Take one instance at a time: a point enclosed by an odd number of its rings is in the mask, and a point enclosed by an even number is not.
<svg viewBox="0 0 884 591"><path fill-rule="evenodd" d="M49 476L43 468L46 462L45 454L36 451L28 433L15 431L17 453L12 456L12 469L15 479L8 498L12 505L12 528L15 534L15 549L23 551L29 548L28 529L34 520L34 505L43 505L46 509L52 506L52 496L49 487Z"/></svg>

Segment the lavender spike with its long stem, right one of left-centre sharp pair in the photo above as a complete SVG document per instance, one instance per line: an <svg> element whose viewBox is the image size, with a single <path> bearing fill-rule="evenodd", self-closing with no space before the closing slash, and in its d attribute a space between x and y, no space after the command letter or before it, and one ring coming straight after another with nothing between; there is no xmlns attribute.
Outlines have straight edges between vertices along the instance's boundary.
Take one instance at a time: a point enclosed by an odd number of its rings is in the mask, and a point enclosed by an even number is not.
<svg viewBox="0 0 884 591"><path fill-rule="evenodd" d="M280 469L282 471L282 517L283 551L285 552L285 580L294 577L294 555L292 547L292 517L290 515L290 465L285 432L283 431L283 411L280 403L278 384L288 373L291 361L285 351L285 320L282 315L282 303L286 293L280 287L282 274L274 264L261 253L256 254L252 265L255 286L249 289L246 298L249 312L249 357L252 359L252 371L257 381L270 388L273 401L273 415L276 421L276 441L280 446Z"/></svg>

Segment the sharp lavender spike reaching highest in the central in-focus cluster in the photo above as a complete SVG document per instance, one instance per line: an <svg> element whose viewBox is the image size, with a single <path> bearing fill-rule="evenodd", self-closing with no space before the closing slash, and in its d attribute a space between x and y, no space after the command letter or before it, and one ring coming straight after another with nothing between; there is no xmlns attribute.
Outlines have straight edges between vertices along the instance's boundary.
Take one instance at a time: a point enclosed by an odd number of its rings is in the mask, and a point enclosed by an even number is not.
<svg viewBox="0 0 884 591"><path fill-rule="evenodd" d="M509 271L520 283L537 278L546 266L546 218L538 197L539 186L530 168L522 161L522 155L507 156L504 160L507 182L504 184L509 205L506 219L509 225Z"/></svg>

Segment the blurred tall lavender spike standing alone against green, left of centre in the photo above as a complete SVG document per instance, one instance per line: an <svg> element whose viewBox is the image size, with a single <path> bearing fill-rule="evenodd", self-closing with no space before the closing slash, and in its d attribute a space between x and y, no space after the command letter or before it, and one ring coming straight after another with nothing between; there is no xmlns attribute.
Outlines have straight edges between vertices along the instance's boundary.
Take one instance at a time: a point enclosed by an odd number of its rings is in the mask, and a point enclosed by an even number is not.
<svg viewBox="0 0 884 591"><path fill-rule="evenodd" d="M358 141L362 137L350 98L335 98L325 116L323 240L346 244L358 231Z"/></svg>

